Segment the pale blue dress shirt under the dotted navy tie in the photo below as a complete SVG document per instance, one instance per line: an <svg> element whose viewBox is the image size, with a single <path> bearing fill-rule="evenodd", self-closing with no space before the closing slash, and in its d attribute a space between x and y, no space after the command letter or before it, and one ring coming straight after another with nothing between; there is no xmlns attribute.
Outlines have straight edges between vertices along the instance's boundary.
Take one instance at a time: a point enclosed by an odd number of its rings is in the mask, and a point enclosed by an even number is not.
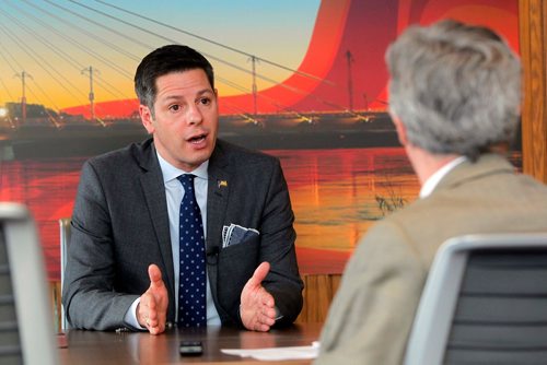
<svg viewBox="0 0 547 365"><path fill-rule="evenodd" d="M160 153L158 154L158 160L160 161L160 168L162 169L163 175L163 184L165 185L165 197L167 202L167 213L170 217L170 235L171 235L171 250L173 254L173 268L175 269L175 298L178 298L178 275L179 275L179 264L178 264L178 256L179 256L179 233L178 233L178 214L181 210L181 202L184 197L184 188L181 181L178 181L177 177L183 174L190 174L188 172L176 168L171 165L167 161L165 161ZM199 210L201 211L201 221L203 223L203 236L207 239L207 181L208 181L208 172L209 161L203 162L198 168L191 172L193 175L196 176L194 179L194 191L196 193L196 200L199 205ZM207 272L207 270L206 270ZM220 326L220 317L217 311L217 307L212 301L211 295L211 285L209 283L209 275L207 276L207 326ZM125 321L129 325L144 329L139 326L137 320L137 305L140 299L133 302L129 310L125 316ZM178 320L178 302L175 306L175 321Z"/></svg>

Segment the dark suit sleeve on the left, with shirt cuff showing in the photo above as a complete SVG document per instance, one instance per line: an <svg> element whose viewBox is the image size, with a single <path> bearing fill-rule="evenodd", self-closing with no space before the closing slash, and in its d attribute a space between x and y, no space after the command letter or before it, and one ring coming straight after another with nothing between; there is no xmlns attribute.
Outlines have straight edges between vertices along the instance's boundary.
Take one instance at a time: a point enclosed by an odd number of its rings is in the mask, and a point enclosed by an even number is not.
<svg viewBox="0 0 547 365"><path fill-rule="evenodd" d="M124 316L137 295L114 287L113 233L107 201L92 164L82 168L72 215L62 304L74 328L113 330L126 327Z"/></svg>

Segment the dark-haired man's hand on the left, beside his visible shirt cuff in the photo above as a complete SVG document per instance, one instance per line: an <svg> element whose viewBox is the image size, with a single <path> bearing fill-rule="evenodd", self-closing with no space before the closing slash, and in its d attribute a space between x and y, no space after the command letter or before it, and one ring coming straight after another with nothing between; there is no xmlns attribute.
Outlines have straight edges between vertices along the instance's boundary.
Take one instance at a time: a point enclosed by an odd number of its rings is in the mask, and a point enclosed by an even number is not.
<svg viewBox="0 0 547 365"><path fill-rule="evenodd" d="M155 264L148 267L150 287L141 295L137 307L137 320L147 328L151 334L165 331L167 317L168 296L167 289L162 280L162 272Z"/></svg>

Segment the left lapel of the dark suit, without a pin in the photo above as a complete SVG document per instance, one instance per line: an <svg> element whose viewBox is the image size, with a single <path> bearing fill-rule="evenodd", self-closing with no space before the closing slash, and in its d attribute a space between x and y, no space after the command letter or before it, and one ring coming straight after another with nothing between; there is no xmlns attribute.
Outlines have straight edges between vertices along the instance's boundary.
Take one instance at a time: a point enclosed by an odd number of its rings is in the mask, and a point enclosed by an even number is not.
<svg viewBox="0 0 547 365"><path fill-rule="evenodd" d="M161 264L165 268L167 278L166 286L170 291L170 297L174 298L174 269L173 254L171 250L170 223L165 198L165 187L163 184L162 172L155 149L152 144L148 150L142 150L141 155L137 156L143 174L140 176L142 191L147 201L150 220L154 227L155 237L162 256ZM171 302L171 301L170 301Z"/></svg>

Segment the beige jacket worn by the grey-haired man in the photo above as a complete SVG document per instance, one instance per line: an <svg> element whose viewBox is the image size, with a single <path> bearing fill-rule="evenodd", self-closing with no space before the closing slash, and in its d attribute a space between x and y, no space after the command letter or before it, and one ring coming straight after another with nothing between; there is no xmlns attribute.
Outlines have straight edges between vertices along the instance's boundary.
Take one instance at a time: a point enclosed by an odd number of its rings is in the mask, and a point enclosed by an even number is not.
<svg viewBox="0 0 547 365"><path fill-rule="evenodd" d="M547 232L547 187L489 154L369 229L350 259L316 364L400 364L429 268L450 237Z"/></svg>

